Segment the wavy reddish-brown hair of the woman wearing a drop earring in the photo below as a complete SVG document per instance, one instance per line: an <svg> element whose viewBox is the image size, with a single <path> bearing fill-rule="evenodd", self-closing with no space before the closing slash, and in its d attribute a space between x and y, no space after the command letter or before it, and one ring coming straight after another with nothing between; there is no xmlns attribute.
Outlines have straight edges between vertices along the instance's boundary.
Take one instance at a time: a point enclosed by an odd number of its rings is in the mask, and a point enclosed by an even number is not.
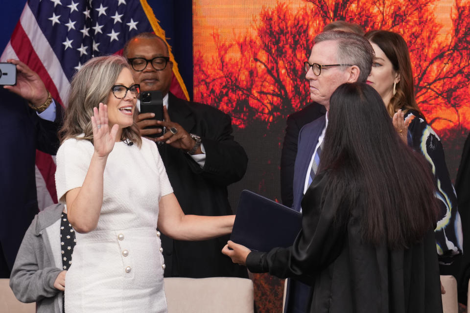
<svg viewBox="0 0 470 313"><path fill-rule="evenodd" d="M415 100L410 53L403 37L386 30L373 30L368 32L365 37L378 45L392 63L393 69L400 74L400 81L396 86L397 93L390 99L387 107L390 116L393 117L393 114L400 109L403 112L414 110L423 116Z"/></svg>

